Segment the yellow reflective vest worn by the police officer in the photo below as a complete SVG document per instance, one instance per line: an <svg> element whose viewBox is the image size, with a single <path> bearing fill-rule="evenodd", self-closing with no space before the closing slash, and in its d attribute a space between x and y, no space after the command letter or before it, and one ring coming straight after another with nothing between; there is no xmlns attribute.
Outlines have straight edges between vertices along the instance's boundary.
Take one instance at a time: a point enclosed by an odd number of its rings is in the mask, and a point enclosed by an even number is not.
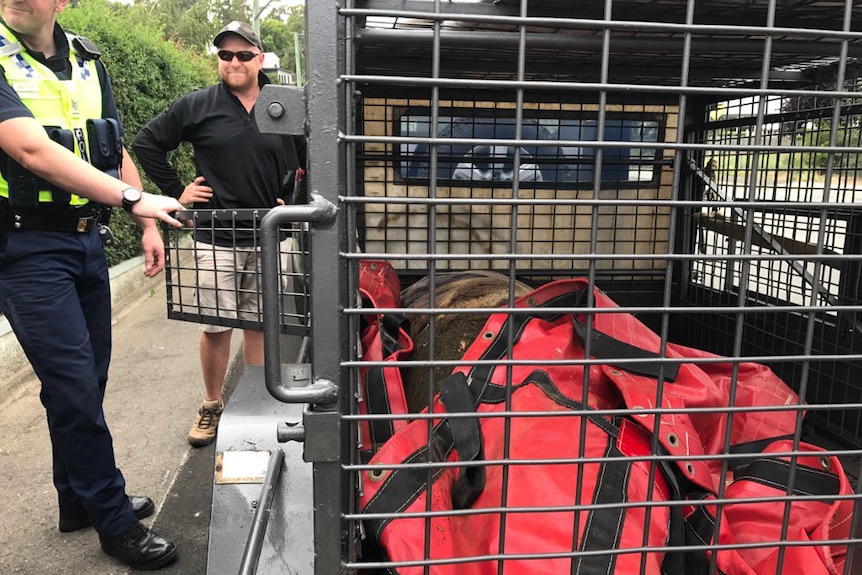
<svg viewBox="0 0 862 575"><path fill-rule="evenodd" d="M96 71L96 61L76 51L69 38L69 59L72 77L59 80L48 67L33 58L15 37L14 32L0 23L0 66L12 89L30 109L36 120L47 127L70 130L75 155L89 162L87 119L102 117L102 87ZM44 182L43 186L44 187ZM0 176L0 196L9 197L9 183ZM51 202L48 189L39 190L39 202ZM82 205L87 198L72 195L69 203Z"/></svg>

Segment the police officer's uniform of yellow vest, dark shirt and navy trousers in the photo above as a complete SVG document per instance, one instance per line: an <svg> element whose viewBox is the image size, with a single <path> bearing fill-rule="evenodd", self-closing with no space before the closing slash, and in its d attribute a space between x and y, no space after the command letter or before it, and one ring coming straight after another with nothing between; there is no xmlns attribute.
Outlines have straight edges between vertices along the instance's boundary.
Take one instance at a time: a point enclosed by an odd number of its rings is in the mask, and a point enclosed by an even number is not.
<svg viewBox="0 0 862 575"><path fill-rule="evenodd" d="M116 175L121 134L99 53L59 26L54 38L57 54L45 59L0 23L0 121L27 115L23 102L55 141ZM83 508L113 537L137 519L102 411L111 297L100 210L5 155L0 174L0 311L42 383L61 513Z"/></svg>

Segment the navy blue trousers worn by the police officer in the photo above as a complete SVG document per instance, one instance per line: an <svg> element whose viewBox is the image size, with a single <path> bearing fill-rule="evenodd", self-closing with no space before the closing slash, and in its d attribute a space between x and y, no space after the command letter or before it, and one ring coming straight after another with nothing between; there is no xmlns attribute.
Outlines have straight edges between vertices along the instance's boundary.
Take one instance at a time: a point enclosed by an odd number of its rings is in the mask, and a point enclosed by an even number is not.
<svg viewBox="0 0 862 575"><path fill-rule="evenodd" d="M83 507L99 534L117 535L137 519L102 411L111 292L99 233L0 236L0 310L42 383L60 508Z"/></svg>

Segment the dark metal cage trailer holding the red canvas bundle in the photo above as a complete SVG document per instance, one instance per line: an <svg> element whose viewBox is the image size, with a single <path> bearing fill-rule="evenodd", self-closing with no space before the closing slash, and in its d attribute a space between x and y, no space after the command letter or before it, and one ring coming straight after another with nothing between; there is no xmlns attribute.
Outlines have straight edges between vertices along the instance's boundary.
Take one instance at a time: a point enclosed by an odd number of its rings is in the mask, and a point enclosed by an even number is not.
<svg viewBox="0 0 862 575"><path fill-rule="evenodd" d="M311 201L261 221L209 573L862 574L862 5L306 26L307 86L256 109Z"/></svg>

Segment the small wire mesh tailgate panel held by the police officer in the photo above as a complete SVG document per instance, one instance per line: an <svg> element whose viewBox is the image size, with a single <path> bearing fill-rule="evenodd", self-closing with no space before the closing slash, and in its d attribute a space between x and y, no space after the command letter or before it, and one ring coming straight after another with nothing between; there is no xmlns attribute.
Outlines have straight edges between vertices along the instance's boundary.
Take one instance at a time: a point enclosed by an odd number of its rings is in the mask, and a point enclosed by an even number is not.
<svg viewBox="0 0 862 575"><path fill-rule="evenodd" d="M164 227L168 317L261 331L260 221L268 210L188 210L183 228ZM279 326L307 332L308 248L302 224L284 226L279 243ZM237 312L237 310L240 310Z"/></svg>

